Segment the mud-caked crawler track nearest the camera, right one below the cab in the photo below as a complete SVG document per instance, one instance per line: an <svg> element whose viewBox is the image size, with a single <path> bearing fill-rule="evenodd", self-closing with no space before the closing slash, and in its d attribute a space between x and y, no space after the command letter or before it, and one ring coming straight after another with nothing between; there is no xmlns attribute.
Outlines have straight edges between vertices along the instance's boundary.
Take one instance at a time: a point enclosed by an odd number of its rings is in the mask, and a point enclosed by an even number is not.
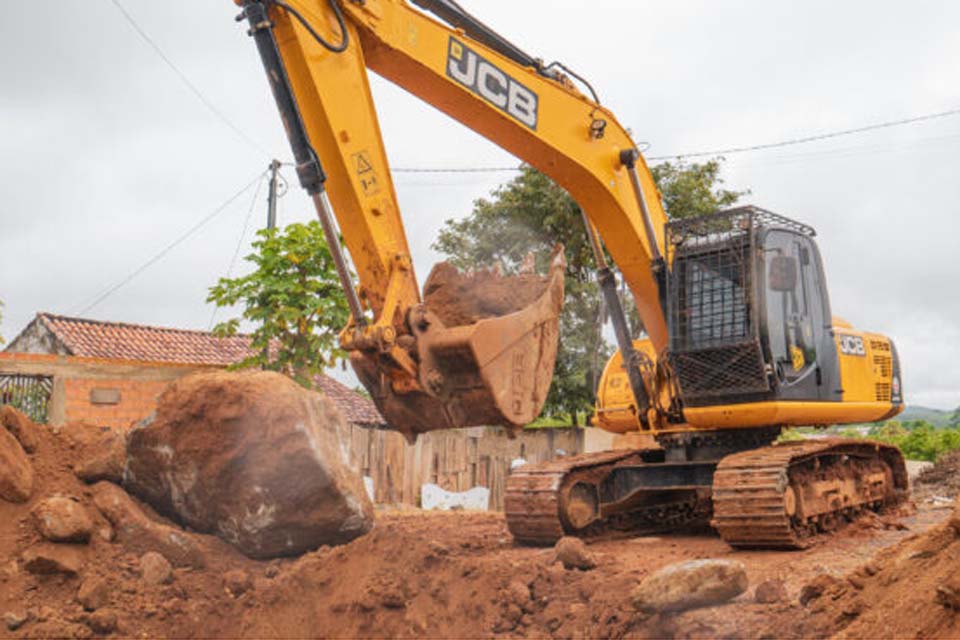
<svg viewBox="0 0 960 640"><path fill-rule="evenodd" d="M906 495L906 465L896 447L844 439L784 443L720 461L712 524L733 547L800 549Z"/></svg>

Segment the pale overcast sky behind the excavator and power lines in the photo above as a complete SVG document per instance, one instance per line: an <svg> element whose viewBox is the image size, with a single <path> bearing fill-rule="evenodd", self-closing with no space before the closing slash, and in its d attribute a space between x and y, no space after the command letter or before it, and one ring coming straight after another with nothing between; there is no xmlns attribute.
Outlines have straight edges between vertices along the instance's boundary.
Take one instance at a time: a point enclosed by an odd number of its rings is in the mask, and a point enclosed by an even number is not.
<svg viewBox="0 0 960 640"><path fill-rule="evenodd" d="M229 0L121 0L213 116L110 0L4 3L0 333L98 294L290 156ZM649 155L772 142L960 106L960 3L464 0L588 77ZM512 166L491 143L374 78L394 166ZM415 125L415 126L414 126ZM834 313L891 335L907 400L960 405L960 117L731 155L728 186L819 232ZM280 222L312 218L293 176ZM418 272L445 219L509 174L396 177ZM92 318L206 329L253 189ZM251 229L265 222L256 202ZM241 256L248 247L241 248ZM238 261L234 272L243 269Z"/></svg>

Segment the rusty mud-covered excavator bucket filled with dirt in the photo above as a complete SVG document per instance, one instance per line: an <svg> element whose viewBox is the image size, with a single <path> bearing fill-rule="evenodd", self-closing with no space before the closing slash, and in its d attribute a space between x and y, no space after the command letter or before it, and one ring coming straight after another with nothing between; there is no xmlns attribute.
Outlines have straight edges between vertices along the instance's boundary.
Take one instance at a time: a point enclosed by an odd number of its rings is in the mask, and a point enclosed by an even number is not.
<svg viewBox="0 0 960 640"><path fill-rule="evenodd" d="M392 429L413 440L438 429L503 425L511 433L543 408L553 378L565 263L554 250L546 276L463 274L433 268L408 323L420 389L398 389L374 357L351 362Z"/></svg>

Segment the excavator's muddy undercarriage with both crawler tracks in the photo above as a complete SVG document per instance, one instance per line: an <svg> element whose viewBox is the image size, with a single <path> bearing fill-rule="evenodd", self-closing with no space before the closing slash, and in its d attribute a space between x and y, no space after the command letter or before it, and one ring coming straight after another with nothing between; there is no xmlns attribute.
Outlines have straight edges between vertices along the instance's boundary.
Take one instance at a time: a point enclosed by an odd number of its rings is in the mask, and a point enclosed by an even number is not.
<svg viewBox="0 0 960 640"><path fill-rule="evenodd" d="M520 467L507 480L507 526L517 541L545 545L565 535L712 525L734 547L799 549L907 495L906 467L895 447L823 439L757 448L756 432L715 436L730 453L714 460L671 460L674 450L651 448Z"/></svg>

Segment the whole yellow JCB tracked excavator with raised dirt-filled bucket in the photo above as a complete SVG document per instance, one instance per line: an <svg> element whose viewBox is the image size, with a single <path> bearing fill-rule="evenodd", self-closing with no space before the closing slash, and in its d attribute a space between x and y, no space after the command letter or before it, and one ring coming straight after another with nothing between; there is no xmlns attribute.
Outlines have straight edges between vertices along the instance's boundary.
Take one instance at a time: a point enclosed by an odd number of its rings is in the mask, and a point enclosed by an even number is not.
<svg viewBox="0 0 960 640"><path fill-rule="evenodd" d="M787 427L874 422L903 408L892 340L832 315L813 228L755 206L668 220L636 143L593 87L455 0L235 2L346 293L352 317L341 345L408 438L515 430L539 415L560 338L564 263L558 248L536 286L507 276L495 299L496 274L438 265L421 295L367 70L545 173L580 205L618 347L593 423L617 434L616 446L515 469L505 511L516 541L710 523L734 547L802 548L904 500L895 447L776 442ZM615 268L642 339L630 333ZM431 304L436 291L478 312L445 313Z"/></svg>

